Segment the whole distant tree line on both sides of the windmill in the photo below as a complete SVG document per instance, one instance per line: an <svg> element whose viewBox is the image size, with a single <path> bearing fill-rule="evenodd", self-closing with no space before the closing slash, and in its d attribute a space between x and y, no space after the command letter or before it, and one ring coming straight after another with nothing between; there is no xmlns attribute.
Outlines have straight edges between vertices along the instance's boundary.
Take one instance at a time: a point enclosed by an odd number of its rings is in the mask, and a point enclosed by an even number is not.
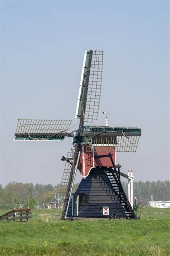
<svg viewBox="0 0 170 256"><path fill-rule="evenodd" d="M74 185L73 193L79 183ZM125 193L128 195L128 184L122 181ZM55 186L48 184L18 183L10 182L4 188L0 185L0 209L17 209L21 207L33 208L35 206L46 207L60 192L61 184ZM170 201L170 181L134 181L133 195L138 199L151 201L153 194L154 201Z"/></svg>

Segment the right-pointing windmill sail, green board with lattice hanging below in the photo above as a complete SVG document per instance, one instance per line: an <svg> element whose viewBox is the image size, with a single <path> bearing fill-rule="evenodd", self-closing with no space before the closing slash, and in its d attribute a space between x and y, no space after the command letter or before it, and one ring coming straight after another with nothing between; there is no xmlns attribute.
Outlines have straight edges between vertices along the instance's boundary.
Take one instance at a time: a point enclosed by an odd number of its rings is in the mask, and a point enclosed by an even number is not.
<svg viewBox="0 0 170 256"><path fill-rule="evenodd" d="M141 136L140 127L86 126L87 152L136 152ZM89 133L93 136L87 136ZM96 133L96 136L95 136ZM73 141L74 143L74 141ZM92 147L93 146L93 147Z"/></svg>

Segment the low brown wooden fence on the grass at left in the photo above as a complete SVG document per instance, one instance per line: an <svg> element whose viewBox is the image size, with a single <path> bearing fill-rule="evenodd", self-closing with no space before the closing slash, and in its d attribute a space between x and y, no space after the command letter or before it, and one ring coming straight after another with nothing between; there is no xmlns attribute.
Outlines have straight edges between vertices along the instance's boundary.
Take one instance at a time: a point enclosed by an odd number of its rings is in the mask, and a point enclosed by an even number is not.
<svg viewBox="0 0 170 256"><path fill-rule="evenodd" d="M28 219L30 219L32 216L31 209L20 209L20 210L12 210L10 212L6 212L6 214L3 214L0 216L1 220L7 220L7 221L23 221L28 222Z"/></svg>

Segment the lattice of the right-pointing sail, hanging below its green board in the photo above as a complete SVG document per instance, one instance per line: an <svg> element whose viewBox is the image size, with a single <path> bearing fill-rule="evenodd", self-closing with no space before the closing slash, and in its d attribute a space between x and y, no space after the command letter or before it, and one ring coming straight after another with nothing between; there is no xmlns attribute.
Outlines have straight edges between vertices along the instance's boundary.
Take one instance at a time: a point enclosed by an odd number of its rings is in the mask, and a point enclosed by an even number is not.
<svg viewBox="0 0 170 256"><path fill-rule="evenodd" d="M92 138L86 151L92 152L136 152L140 136L112 136ZM92 147L93 145L93 147Z"/></svg>

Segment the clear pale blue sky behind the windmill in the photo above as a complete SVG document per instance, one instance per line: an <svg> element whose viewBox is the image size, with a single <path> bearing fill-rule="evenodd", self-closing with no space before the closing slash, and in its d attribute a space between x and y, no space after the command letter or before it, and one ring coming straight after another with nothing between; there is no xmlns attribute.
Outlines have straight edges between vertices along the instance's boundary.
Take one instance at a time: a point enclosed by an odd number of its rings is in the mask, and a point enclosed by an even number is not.
<svg viewBox="0 0 170 256"><path fill-rule="evenodd" d="M72 119L85 50L104 50L98 124L137 126L134 180L169 179L169 1L1 1L1 177L60 183L63 142L14 142L17 118ZM96 125L96 123L93 123Z"/></svg>

